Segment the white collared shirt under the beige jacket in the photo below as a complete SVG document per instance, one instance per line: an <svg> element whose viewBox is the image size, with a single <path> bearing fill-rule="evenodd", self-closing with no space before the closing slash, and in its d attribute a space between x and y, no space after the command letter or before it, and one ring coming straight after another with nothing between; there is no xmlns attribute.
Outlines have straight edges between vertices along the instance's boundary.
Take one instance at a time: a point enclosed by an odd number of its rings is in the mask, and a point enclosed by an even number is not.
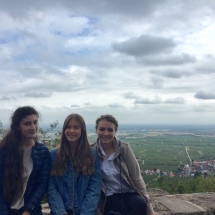
<svg viewBox="0 0 215 215"><path fill-rule="evenodd" d="M113 195L114 193L126 193L126 192L134 192L134 190L130 187L129 184L121 177L120 172L117 171L116 167L114 166L114 158L115 152L113 152L108 158L100 144L98 146L101 150L103 162L101 165L102 169L102 179L106 187L106 196ZM122 182L122 186L120 183L120 178Z"/></svg>

